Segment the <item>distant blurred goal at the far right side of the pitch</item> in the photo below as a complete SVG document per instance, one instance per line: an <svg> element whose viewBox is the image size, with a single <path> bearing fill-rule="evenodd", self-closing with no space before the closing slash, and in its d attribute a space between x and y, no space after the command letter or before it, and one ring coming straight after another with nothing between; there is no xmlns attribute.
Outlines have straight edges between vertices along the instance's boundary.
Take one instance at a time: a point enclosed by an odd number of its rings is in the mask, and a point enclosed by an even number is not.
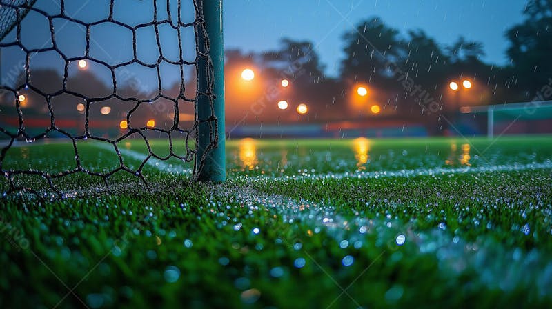
<svg viewBox="0 0 552 309"><path fill-rule="evenodd" d="M495 137L497 125L500 125L502 132L508 131L515 123L545 121L549 123L552 119L552 101L530 101L523 103L498 104L488 106L463 106L460 108L463 114L482 113L487 116L487 137ZM550 126L549 126L550 129Z"/></svg>

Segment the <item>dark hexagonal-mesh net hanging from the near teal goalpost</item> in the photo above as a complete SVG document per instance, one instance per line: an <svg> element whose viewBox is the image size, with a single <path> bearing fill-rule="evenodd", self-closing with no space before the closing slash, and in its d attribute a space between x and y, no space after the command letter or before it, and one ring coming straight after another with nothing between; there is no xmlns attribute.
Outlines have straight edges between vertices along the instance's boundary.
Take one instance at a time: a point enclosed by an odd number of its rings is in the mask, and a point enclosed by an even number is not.
<svg viewBox="0 0 552 309"><path fill-rule="evenodd" d="M208 148L218 139L215 114L197 116L197 104L213 111L215 99L201 1L46 2L0 0L3 196L66 197L79 194L83 182L103 192L113 179L148 186L147 167L163 161L172 170L188 163L190 179L197 177L207 155L197 158L197 128L208 123ZM147 18L139 16L144 11ZM50 157L38 161L49 161L49 169L26 163L35 144L53 138L64 141L55 147L69 148L70 160L45 151ZM152 138L164 139L168 150L157 151ZM143 151L132 150L137 143ZM34 152L37 159L41 152Z"/></svg>

